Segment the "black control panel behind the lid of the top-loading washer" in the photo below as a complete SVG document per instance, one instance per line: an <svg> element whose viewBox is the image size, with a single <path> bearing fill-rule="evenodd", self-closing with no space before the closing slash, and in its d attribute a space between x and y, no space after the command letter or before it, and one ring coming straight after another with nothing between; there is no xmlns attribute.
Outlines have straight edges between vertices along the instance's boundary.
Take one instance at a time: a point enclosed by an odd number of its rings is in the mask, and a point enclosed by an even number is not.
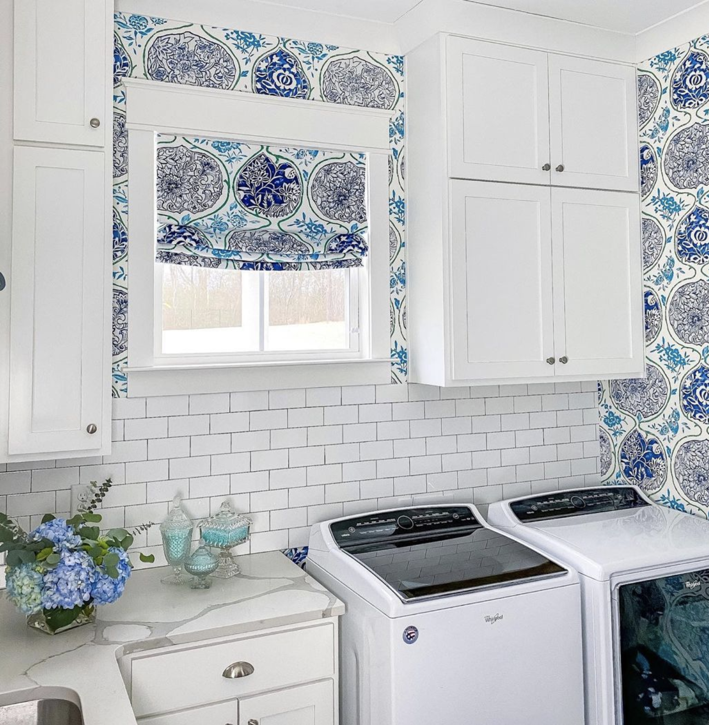
<svg viewBox="0 0 709 725"><path fill-rule="evenodd" d="M397 538L443 534L461 534L473 526L480 526L467 506L446 508L402 508L383 511L343 521L335 521L330 531L341 548L359 546L366 542L386 542Z"/></svg>

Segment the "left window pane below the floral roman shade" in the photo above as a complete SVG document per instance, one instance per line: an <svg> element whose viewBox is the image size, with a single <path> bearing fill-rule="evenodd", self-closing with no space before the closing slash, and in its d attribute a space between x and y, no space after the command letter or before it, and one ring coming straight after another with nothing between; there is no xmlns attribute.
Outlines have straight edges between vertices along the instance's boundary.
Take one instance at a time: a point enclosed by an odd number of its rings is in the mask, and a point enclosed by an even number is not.
<svg viewBox="0 0 709 725"><path fill-rule="evenodd" d="M258 336L254 347L250 329L257 325L257 312L251 326L242 326L244 273L186 265L161 266L163 353L257 349Z"/></svg>

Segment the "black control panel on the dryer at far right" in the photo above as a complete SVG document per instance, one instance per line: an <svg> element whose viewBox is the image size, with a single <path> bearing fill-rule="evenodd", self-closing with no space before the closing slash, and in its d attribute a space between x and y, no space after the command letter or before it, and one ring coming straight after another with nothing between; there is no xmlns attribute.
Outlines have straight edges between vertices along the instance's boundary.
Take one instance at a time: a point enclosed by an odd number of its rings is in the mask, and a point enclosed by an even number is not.
<svg viewBox="0 0 709 725"><path fill-rule="evenodd" d="M510 509L519 521L549 521L587 513L608 513L649 506L638 492L628 486L601 486L597 489L560 491L513 501Z"/></svg>

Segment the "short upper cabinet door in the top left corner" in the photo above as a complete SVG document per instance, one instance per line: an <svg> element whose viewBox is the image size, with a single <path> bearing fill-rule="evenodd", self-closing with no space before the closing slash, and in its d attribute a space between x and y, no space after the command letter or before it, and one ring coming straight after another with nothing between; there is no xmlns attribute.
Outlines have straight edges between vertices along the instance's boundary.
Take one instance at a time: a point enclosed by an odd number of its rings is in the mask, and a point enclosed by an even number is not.
<svg viewBox="0 0 709 725"><path fill-rule="evenodd" d="M112 7L106 0L15 2L15 139L104 146Z"/></svg>

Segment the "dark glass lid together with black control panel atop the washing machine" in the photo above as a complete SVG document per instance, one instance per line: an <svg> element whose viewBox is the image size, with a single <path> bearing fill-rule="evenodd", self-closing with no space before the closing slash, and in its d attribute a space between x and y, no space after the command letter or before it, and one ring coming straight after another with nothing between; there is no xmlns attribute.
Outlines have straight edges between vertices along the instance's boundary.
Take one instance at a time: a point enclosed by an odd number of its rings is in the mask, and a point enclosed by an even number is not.
<svg viewBox="0 0 709 725"><path fill-rule="evenodd" d="M482 526L470 508L410 508L333 522L338 546L404 602L517 584L566 570Z"/></svg>

